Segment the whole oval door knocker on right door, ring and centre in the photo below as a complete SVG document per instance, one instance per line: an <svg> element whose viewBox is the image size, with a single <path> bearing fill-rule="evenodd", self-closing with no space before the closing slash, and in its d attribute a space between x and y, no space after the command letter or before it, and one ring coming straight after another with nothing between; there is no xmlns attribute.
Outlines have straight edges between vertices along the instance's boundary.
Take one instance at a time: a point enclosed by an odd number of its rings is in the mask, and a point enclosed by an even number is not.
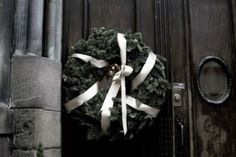
<svg viewBox="0 0 236 157"><path fill-rule="evenodd" d="M210 104L222 104L230 95L232 78L225 62L215 56L203 58L197 67L197 87Z"/></svg>

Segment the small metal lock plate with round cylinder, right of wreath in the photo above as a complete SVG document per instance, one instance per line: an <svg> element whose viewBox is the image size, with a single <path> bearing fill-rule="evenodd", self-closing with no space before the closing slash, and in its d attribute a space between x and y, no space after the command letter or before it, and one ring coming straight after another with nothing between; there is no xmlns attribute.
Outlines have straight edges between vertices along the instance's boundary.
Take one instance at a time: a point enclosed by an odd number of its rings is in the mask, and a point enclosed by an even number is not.
<svg viewBox="0 0 236 157"><path fill-rule="evenodd" d="M184 89L185 89L184 83L172 84L172 103L175 107L180 107L183 105Z"/></svg>

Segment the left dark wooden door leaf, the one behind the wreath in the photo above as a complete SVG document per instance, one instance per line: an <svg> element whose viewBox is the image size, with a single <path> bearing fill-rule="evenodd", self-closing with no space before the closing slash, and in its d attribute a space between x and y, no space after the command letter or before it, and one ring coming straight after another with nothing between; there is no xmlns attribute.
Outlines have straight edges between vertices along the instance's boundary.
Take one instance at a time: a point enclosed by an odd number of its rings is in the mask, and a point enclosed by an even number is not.
<svg viewBox="0 0 236 157"><path fill-rule="evenodd" d="M91 28L106 27L120 32L140 31L154 52L167 57L165 0L70 0L64 8L65 51L79 39L87 38ZM128 142L84 142L76 124L63 113L63 156L172 157L172 106L169 102L164 106L152 129Z"/></svg>

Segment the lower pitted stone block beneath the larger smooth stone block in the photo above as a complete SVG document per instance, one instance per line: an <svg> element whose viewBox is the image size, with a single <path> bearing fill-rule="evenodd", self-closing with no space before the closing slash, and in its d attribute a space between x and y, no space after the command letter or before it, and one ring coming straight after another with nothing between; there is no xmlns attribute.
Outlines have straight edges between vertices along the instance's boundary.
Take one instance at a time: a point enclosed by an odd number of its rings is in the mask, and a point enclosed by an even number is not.
<svg viewBox="0 0 236 157"><path fill-rule="evenodd" d="M61 147L61 114L42 109L15 109L14 149Z"/></svg>

